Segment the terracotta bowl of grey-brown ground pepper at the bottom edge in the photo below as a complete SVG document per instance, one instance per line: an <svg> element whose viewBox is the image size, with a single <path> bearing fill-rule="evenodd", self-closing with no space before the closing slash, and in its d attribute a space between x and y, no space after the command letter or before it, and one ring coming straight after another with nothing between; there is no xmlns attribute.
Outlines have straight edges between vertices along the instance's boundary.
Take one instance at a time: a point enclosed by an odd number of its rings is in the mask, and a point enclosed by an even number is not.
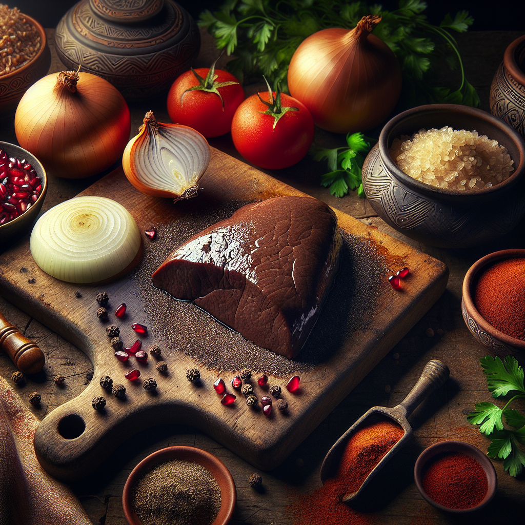
<svg viewBox="0 0 525 525"><path fill-rule="evenodd" d="M166 447L144 458L124 485L130 525L226 525L237 491L226 466L195 447Z"/></svg>

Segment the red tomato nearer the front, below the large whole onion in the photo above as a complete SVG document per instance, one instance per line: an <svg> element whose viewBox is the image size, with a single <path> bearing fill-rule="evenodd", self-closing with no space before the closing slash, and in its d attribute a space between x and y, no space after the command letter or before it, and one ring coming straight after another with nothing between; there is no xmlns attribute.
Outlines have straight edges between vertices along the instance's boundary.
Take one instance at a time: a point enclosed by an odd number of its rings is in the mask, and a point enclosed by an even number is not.
<svg viewBox="0 0 525 525"><path fill-rule="evenodd" d="M269 101L269 93L259 93ZM274 99L276 93L273 93ZM299 111L286 111L276 123L262 114L268 110L257 95L248 97L237 108L232 122L232 139L237 151L252 164L278 170L299 162L313 140L313 119L308 109L295 98L281 93L281 106Z"/></svg>

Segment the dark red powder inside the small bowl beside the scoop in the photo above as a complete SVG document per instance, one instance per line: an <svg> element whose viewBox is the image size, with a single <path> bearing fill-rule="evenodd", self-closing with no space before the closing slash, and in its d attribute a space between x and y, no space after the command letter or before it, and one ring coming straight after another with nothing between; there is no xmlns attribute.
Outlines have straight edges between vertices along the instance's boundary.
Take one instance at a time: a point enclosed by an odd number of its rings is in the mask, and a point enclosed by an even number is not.
<svg viewBox="0 0 525 525"><path fill-rule="evenodd" d="M439 505L449 509L471 509L487 495L483 467L466 454L440 454L423 475L423 489Z"/></svg>

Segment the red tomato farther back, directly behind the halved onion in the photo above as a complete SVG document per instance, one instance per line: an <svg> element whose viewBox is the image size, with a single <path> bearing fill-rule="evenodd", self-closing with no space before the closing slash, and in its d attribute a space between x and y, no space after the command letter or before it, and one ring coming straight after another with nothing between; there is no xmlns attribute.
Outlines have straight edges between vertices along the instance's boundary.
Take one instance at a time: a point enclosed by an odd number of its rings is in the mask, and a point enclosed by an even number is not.
<svg viewBox="0 0 525 525"><path fill-rule="evenodd" d="M195 71L205 79L209 69L201 67ZM171 120L177 124L190 126L208 138L228 133L232 127L235 110L244 100L244 90L233 75L221 69L216 69L215 75L217 75L215 84L237 82L216 88L223 98L224 109L217 93L203 90L184 92L202 83L191 70L186 71L173 82L167 96L167 112Z"/></svg>

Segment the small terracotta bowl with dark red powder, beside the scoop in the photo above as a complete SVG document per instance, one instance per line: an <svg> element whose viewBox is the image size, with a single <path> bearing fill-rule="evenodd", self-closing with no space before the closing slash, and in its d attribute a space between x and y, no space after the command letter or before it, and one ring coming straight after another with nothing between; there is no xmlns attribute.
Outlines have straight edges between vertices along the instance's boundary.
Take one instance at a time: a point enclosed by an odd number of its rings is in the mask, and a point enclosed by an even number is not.
<svg viewBox="0 0 525 525"><path fill-rule="evenodd" d="M485 507L498 486L490 459L474 445L452 440L423 450L414 466L414 480L430 505L455 514Z"/></svg>

